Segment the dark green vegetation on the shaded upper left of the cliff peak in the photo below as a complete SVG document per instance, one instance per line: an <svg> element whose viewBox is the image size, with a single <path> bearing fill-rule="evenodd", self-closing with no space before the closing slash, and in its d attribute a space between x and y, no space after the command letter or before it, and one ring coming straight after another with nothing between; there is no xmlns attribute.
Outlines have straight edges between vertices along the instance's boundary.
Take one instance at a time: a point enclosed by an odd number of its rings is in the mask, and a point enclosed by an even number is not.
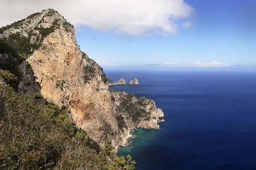
<svg viewBox="0 0 256 170"><path fill-rule="evenodd" d="M50 10L49 13L45 16L51 16L53 13L56 12L54 10ZM36 15L40 15L40 13L33 13L29 15L27 19L31 19ZM18 22L14 22L11 25L6 25L0 28L0 34L10 28L19 28L24 23L24 20L19 20ZM39 26L40 23L44 22L44 18L38 22L37 27L35 30L39 31L39 34L36 34L33 31L29 31L28 36L22 36L20 32L16 32L15 34L10 34L8 38L0 39L0 68L4 70L10 71L10 73L15 74L17 77L16 83L10 83L10 85L17 90L19 81L22 78L22 74L19 72L19 64L27 59L29 55L31 55L35 50L37 50L41 45L42 41L46 36L54 32L55 29L60 28L60 24L58 23L59 20L54 20L53 24L49 28L42 28ZM35 37L35 43L31 43L32 36Z"/></svg>

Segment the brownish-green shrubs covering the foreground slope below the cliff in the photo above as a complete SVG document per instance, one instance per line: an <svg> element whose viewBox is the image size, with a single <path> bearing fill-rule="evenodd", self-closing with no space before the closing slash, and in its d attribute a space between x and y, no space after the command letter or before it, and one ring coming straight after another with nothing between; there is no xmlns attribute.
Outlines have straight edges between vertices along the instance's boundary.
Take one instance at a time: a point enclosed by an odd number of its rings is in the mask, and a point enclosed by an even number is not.
<svg viewBox="0 0 256 170"><path fill-rule="evenodd" d="M55 104L0 85L0 169L134 169L131 156L100 148Z"/></svg>

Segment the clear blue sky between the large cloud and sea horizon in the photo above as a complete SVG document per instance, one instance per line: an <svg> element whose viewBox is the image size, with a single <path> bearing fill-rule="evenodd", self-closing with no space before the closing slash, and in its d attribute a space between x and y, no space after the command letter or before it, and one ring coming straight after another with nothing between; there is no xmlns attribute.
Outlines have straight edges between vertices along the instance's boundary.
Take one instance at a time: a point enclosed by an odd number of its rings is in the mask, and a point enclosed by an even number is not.
<svg viewBox="0 0 256 170"><path fill-rule="evenodd" d="M256 1L185 2L195 9L190 18L193 27L180 28L175 34L131 36L82 26L76 31L77 41L81 50L107 69L148 64L185 67L185 63L188 67L196 61L223 62L232 67L256 65ZM167 62L177 64L164 64Z"/></svg>

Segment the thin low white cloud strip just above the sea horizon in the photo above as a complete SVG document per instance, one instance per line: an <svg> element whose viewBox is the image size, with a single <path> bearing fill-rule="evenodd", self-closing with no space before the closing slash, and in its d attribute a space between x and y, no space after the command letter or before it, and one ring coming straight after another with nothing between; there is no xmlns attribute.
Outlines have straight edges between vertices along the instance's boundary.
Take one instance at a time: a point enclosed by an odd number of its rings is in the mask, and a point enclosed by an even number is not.
<svg viewBox="0 0 256 170"><path fill-rule="evenodd" d="M171 66L171 67L227 67L231 66L228 63L225 62L217 62L217 61L212 61L212 62L200 62L200 61L195 61L195 62L164 62L163 65L166 66Z"/></svg>

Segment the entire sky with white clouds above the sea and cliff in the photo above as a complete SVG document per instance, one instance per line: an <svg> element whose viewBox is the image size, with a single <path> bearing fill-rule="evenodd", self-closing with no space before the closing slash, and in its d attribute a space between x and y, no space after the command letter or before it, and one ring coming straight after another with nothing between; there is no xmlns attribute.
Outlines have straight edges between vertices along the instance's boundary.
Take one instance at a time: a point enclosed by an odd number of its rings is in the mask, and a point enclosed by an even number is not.
<svg viewBox="0 0 256 170"><path fill-rule="evenodd" d="M254 0L1 0L0 26L47 8L104 69L256 70Z"/></svg>

